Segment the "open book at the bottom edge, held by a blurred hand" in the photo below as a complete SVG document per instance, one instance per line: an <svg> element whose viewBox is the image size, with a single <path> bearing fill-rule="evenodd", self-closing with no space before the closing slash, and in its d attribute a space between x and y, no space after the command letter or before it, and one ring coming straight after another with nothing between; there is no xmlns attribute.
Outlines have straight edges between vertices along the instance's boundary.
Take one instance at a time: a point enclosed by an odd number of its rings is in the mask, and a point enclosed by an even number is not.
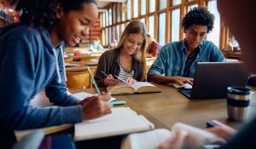
<svg viewBox="0 0 256 149"><path fill-rule="evenodd" d="M218 140L218 136L184 123L175 123L172 131L168 129L154 129L151 131L128 135L121 144L121 149L154 149L161 143L175 135L178 130L187 131L189 134L183 142L183 148L202 148L209 146ZM212 145L216 146L216 145Z"/></svg>

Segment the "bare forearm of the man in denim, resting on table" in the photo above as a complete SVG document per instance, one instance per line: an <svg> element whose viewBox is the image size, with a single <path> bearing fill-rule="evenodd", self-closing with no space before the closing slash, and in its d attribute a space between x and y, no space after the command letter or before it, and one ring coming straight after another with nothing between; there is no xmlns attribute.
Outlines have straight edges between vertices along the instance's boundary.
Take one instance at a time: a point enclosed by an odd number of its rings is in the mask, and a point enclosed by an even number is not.
<svg viewBox="0 0 256 149"><path fill-rule="evenodd" d="M175 83L175 77L160 76L160 75L148 75L148 81L154 83Z"/></svg>

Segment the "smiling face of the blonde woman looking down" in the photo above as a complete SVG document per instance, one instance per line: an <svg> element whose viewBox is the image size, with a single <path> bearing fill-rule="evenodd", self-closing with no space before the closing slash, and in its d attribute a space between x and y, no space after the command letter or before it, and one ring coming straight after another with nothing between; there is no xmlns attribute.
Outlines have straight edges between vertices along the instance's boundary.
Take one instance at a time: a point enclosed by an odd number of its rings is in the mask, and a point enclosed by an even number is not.
<svg viewBox="0 0 256 149"><path fill-rule="evenodd" d="M142 49L144 37L142 34L131 33L125 40L122 47L122 53L135 54L137 50Z"/></svg>

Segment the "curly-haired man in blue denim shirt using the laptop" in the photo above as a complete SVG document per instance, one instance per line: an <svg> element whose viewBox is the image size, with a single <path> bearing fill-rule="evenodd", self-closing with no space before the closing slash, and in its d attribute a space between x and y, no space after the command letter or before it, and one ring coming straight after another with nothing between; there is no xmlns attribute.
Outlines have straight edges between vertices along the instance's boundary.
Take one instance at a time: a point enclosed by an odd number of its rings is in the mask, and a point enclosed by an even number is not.
<svg viewBox="0 0 256 149"><path fill-rule="evenodd" d="M159 57L148 71L154 83L193 83L195 65L199 61L225 61L217 46L204 40L212 31L214 15L206 8L191 9L182 21L185 38L168 43L160 49ZM162 76L165 74L165 76Z"/></svg>

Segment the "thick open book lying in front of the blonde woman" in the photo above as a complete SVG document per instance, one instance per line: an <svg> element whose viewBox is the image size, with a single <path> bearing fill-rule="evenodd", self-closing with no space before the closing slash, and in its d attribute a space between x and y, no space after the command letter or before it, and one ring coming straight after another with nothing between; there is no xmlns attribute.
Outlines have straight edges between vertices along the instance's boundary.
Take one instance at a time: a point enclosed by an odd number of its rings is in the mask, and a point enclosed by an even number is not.
<svg viewBox="0 0 256 149"><path fill-rule="evenodd" d="M111 95L128 95L134 93L153 93L160 92L156 86L148 82L137 82L133 85L128 85L127 83L119 82L114 86L107 87L108 92L111 92Z"/></svg>

